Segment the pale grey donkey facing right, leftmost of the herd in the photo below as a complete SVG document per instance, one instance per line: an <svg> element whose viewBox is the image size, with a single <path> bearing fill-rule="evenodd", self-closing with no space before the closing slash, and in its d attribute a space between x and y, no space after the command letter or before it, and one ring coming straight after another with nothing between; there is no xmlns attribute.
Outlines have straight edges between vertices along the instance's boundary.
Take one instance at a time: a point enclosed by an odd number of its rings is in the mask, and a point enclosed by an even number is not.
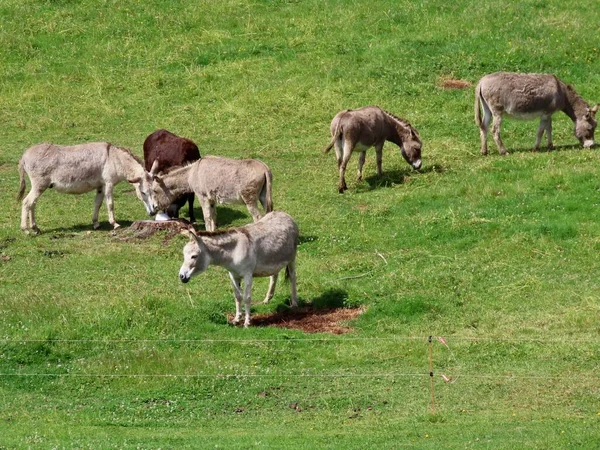
<svg viewBox="0 0 600 450"><path fill-rule="evenodd" d="M31 190L25 194L25 173L29 176ZM92 223L98 229L98 212L104 197L108 209L108 220L113 228L115 221L112 191L113 186L127 180L136 186L138 196L144 202L148 214L156 214L152 197L151 175L144 170L139 158L129 150L115 147L108 142L94 142L72 146L39 144L25 151L19 161L21 186L17 196L23 200L21 230L39 233L35 221L37 199L48 188L66 194L83 194L96 190ZM28 227L29 225L29 227Z"/></svg>

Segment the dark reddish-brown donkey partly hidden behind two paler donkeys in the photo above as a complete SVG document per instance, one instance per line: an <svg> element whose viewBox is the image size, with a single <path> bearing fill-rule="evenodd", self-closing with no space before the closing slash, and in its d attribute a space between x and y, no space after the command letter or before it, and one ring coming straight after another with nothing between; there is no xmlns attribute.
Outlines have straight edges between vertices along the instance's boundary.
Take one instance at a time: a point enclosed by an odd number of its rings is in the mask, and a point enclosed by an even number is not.
<svg viewBox="0 0 600 450"><path fill-rule="evenodd" d="M144 141L144 164L150 171L154 161L158 161L157 171L165 172L175 167L183 166L200 159L198 146L190 139L179 137L167 130L156 130ZM170 217L178 218L179 209L188 203L190 222L195 222L194 193L184 194L177 198L168 208L166 213Z"/></svg>

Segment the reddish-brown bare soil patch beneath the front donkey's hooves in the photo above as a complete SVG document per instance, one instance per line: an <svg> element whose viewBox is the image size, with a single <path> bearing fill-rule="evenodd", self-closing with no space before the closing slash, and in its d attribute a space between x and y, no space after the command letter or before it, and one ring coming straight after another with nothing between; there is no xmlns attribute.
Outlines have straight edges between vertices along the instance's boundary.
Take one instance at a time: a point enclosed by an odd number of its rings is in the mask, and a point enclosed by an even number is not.
<svg viewBox="0 0 600 450"><path fill-rule="evenodd" d="M362 308L319 308L302 306L293 310L252 316L252 325L302 330L305 333L344 334L352 331L347 322L355 319Z"/></svg>

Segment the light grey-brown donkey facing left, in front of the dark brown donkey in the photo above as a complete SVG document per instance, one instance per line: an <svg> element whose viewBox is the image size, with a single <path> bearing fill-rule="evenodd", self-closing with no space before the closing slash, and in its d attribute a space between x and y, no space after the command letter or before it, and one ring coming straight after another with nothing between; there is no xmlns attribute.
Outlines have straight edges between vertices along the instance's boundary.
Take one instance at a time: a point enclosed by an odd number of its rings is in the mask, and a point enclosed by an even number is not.
<svg viewBox="0 0 600 450"><path fill-rule="evenodd" d="M150 171L154 177L152 193L163 209L187 192L198 196L207 231L217 229L217 203L245 204L257 222L262 214L273 211L271 184L273 175L267 165L256 159L229 159L206 156L190 165L165 174L156 174L156 162Z"/></svg>

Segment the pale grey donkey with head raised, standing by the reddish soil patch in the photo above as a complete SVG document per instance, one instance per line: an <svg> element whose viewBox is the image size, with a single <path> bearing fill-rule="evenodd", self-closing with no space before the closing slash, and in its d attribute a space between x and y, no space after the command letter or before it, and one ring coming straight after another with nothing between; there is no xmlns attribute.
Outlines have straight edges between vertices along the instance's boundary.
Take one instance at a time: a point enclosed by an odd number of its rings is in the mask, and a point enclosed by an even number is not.
<svg viewBox="0 0 600 450"><path fill-rule="evenodd" d="M192 228L189 236L190 242L183 248L179 279L187 283L211 264L227 269L235 296L235 325L242 317L242 299L246 313L244 327L250 325L252 278L270 277L263 302L268 303L275 293L278 274L284 267L292 288L292 307L298 306L295 268L298 226L288 214L274 211L256 223L212 233L196 233Z"/></svg>

